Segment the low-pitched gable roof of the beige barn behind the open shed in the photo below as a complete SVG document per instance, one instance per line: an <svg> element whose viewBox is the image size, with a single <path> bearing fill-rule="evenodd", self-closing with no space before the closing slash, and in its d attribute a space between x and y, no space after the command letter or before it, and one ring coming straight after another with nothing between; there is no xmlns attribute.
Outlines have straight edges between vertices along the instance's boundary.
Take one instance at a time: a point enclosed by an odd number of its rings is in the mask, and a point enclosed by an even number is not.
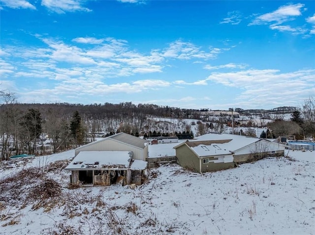
<svg viewBox="0 0 315 235"><path fill-rule="evenodd" d="M107 139L113 139L113 140L116 140L118 142L122 142L122 143L125 143L125 144L128 144L128 145L132 145L132 146L138 147L140 149L144 149L144 147L147 144L147 141L144 140L144 139L141 139L139 137L133 136L131 134L126 134L124 132L120 132L120 133L108 136L106 138L96 140L96 141L94 141L92 143L80 146L80 147L76 148L76 150L84 148L84 147L89 146L89 145L94 145L95 143L98 143L98 142L101 142L101 141L105 141Z"/></svg>

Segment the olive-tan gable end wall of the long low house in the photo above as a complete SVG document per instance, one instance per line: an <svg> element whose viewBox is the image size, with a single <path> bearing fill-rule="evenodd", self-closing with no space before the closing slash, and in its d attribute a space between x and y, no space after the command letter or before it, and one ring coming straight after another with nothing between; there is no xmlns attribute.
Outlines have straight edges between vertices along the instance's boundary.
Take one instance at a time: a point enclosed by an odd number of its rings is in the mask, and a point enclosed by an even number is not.
<svg viewBox="0 0 315 235"><path fill-rule="evenodd" d="M199 157L197 157L187 145L183 145L176 149L176 157L182 167L189 168L195 172L200 172Z"/></svg>

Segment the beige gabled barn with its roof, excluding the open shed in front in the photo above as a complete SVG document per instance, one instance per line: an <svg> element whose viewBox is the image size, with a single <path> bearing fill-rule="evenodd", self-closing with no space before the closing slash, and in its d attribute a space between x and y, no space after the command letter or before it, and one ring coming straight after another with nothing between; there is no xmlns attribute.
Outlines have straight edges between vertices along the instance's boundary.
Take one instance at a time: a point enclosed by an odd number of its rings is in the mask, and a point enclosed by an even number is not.
<svg viewBox="0 0 315 235"><path fill-rule="evenodd" d="M144 139L120 132L76 148L74 156L81 151L131 151L132 159L145 161L148 157L148 144Z"/></svg>

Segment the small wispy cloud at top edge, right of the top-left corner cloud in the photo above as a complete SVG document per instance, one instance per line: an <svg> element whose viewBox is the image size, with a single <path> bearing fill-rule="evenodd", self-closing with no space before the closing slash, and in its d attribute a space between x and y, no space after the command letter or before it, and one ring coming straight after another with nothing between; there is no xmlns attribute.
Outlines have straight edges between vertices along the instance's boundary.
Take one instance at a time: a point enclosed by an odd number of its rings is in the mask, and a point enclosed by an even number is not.
<svg viewBox="0 0 315 235"><path fill-rule="evenodd" d="M82 6L84 2L85 0L42 0L41 4L49 10L59 14L63 14L67 11L92 11L91 9Z"/></svg>

